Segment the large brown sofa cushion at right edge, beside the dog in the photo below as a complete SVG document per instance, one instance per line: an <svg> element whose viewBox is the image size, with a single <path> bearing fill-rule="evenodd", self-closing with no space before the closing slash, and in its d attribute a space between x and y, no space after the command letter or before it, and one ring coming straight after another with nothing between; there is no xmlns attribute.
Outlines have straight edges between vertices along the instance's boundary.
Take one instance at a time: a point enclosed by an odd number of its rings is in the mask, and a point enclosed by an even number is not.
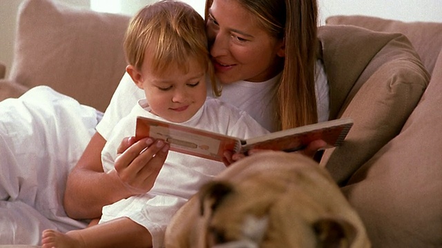
<svg viewBox="0 0 442 248"><path fill-rule="evenodd" d="M442 52L403 130L343 187L373 247L442 244Z"/></svg>

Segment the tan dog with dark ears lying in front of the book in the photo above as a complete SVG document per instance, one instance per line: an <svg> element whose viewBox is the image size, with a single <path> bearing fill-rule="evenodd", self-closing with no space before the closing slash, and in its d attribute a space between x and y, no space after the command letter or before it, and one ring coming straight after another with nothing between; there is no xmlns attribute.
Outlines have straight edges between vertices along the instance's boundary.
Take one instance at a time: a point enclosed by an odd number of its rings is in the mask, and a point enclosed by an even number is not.
<svg viewBox="0 0 442 248"><path fill-rule="evenodd" d="M365 227L310 158L262 152L232 164L173 216L166 247L370 247Z"/></svg>

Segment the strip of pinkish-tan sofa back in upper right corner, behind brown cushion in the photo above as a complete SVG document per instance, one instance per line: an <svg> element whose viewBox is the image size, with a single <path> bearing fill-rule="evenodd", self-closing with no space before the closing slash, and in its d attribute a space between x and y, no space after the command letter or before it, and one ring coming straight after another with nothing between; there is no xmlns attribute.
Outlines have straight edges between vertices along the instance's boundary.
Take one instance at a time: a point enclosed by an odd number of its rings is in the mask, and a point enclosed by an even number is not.
<svg viewBox="0 0 442 248"><path fill-rule="evenodd" d="M432 74L437 56L442 44L442 23L410 22L381 19L378 17L365 16L332 16L327 18L327 24L332 25L356 25L369 30L379 32L400 32L410 39L416 52L428 72Z"/></svg>

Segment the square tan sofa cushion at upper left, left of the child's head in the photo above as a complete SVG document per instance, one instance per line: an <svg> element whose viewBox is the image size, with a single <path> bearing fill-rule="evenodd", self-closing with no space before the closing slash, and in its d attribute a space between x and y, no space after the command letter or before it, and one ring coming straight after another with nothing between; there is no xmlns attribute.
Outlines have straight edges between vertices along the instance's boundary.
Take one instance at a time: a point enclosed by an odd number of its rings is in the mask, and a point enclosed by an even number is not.
<svg viewBox="0 0 442 248"><path fill-rule="evenodd" d="M104 111L126 67L122 41L129 18L23 1L10 80L48 85Z"/></svg>

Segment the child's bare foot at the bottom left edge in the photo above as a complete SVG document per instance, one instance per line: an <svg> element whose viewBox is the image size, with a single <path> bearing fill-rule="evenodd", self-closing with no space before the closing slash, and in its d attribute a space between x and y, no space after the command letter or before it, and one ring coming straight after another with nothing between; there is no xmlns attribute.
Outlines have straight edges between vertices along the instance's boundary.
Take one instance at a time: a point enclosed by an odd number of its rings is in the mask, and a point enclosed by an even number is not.
<svg viewBox="0 0 442 248"><path fill-rule="evenodd" d="M41 234L41 248L77 248L82 247L81 241L69 234L62 234L52 229Z"/></svg>

